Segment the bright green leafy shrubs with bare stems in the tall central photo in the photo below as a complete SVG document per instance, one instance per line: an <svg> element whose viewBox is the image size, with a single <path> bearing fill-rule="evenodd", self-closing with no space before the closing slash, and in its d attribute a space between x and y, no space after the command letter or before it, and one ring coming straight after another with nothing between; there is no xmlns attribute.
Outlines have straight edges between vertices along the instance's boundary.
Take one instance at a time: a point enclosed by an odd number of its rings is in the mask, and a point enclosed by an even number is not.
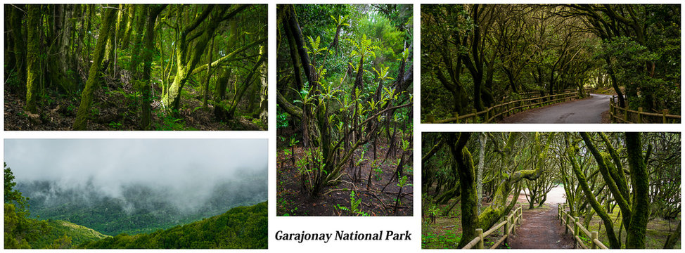
<svg viewBox="0 0 685 253"><path fill-rule="evenodd" d="M305 157L309 158L305 162L301 157L297 167L302 175L302 188L310 195L319 195L333 186L347 162L353 166L367 162L364 151L359 152L361 146L376 138L389 138L369 133L395 124L393 115L410 112L389 109L411 103L411 95L404 91L411 84L392 82L400 72L409 71L411 63L401 65L400 60L409 60L411 50L405 49L411 41L403 37L406 27L397 27L390 22L388 15L397 8L389 6L388 12L374 5L293 6L302 29L301 39L306 44L305 48L297 49L307 51L311 66L288 64L295 63L295 59L290 59L293 55L287 53L290 51L288 46L300 45L281 44L279 62L286 64L279 66L279 74L286 78L279 83L279 86L284 85L279 90L302 111L297 118L303 126L302 141L312 148L305 150ZM283 8L290 11L290 6ZM405 6L402 11L410 9ZM403 13L398 20L405 24L411 19L409 17L411 11ZM279 29L281 27L279 24ZM302 75L300 79L308 82L295 85L293 70L302 67L313 68L316 73L309 77ZM398 86L402 92L397 91ZM383 114L383 110L392 113ZM399 124L406 126L407 122Z"/></svg>

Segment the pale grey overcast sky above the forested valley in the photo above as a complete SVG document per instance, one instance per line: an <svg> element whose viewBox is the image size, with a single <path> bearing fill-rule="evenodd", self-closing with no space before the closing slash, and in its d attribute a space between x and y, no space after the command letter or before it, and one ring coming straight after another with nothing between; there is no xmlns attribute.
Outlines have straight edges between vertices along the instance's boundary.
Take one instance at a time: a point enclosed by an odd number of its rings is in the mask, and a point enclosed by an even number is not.
<svg viewBox="0 0 685 253"><path fill-rule="evenodd" d="M117 195L122 184L206 188L236 171L267 173L267 139L6 139L16 181L92 180Z"/></svg>

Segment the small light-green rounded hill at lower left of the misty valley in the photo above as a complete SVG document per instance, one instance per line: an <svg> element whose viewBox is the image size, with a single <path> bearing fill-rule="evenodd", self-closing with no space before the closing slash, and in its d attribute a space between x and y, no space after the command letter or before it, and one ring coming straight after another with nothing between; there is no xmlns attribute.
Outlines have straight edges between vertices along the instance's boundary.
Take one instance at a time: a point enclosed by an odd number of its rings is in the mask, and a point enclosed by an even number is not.
<svg viewBox="0 0 685 253"><path fill-rule="evenodd" d="M47 221L50 232L31 243L34 249L45 249L55 247L70 247L70 245L80 245L83 242L100 240L110 237L103 235L91 228L77 225L69 221ZM67 238L65 238L65 236ZM70 243L69 243L70 242Z"/></svg>

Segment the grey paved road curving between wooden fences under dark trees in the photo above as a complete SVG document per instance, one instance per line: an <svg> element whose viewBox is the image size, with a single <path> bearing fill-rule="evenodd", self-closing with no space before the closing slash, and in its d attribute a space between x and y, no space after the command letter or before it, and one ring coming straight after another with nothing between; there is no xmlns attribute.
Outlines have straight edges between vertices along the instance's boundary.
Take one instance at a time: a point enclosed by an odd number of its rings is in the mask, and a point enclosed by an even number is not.
<svg viewBox="0 0 685 253"><path fill-rule="evenodd" d="M590 98L549 105L517 113L503 123L601 123L602 113L609 110L610 95L590 94Z"/></svg>

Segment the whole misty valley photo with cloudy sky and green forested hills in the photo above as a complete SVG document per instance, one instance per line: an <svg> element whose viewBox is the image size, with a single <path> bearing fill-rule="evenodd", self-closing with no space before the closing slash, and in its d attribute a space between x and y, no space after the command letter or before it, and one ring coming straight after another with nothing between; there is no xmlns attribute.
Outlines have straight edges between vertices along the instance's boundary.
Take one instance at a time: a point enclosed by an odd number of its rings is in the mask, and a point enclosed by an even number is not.
<svg viewBox="0 0 685 253"><path fill-rule="evenodd" d="M267 247L266 139L4 147L5 248Z"/></svg>

